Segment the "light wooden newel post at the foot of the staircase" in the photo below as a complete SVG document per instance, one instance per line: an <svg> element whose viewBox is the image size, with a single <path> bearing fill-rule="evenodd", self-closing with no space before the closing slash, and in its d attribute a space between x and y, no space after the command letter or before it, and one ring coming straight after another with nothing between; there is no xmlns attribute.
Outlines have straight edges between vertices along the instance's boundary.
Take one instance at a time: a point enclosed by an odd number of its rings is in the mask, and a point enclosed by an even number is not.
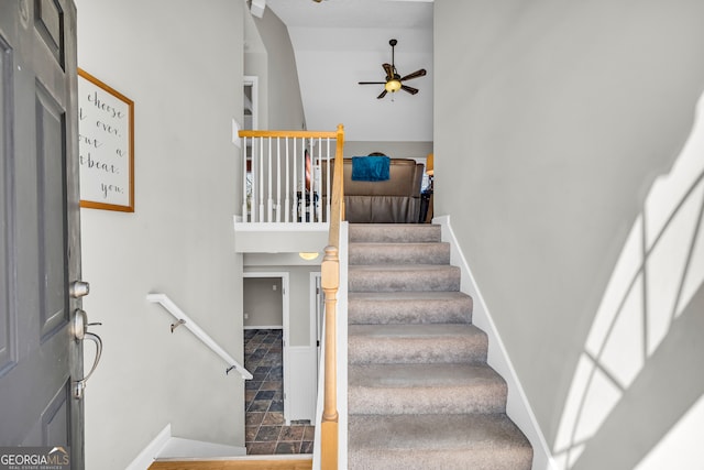
<svg viewBox="0 0 704 470"><path fill-rule="evenodd" d="M326 247L322 259L321 285L326 296L326 356L324 356L324 397L321 424L321 468L338 468L338 373L337 373L337 309L338 287L340 286L340 259L337 247Z"/></svg>

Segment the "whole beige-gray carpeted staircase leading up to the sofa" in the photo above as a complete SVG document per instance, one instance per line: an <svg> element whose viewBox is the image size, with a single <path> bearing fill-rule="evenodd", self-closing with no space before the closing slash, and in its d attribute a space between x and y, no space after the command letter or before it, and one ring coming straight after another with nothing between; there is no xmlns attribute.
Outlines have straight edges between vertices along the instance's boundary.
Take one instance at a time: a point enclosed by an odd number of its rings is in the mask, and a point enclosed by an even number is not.
<svg viewBox="0 0 704 470"><path fill-rule="evenodd" d="M529 470L472 298L431 225L350 225L349 468Z"/></svg>

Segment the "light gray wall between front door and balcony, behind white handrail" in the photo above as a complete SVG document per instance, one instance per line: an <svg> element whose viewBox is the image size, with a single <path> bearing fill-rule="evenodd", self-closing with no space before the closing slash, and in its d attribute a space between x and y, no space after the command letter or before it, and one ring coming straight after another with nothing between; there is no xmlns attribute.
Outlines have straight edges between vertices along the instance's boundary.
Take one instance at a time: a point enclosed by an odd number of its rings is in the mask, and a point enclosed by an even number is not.
<svg viewBox="0 0 704 470"><path fill-rule="evenodd" d="M105 340L86 390L87 468L124 469L168 423L242 446L242 379L185 329L172 335L145 295L169 295L242 360L231 120L242 121L243 2L76 3L79 66L135 103L135 212L81 210L84 305Z"/></svg>

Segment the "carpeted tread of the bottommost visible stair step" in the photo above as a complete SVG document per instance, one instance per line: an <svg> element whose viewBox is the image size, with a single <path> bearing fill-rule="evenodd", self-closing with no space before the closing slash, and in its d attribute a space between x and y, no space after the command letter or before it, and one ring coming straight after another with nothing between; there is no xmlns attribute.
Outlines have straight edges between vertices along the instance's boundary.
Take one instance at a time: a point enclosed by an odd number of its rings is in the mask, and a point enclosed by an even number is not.
<svg viewBox="0 0 704 470"><path fill-rule="evenodd" d="M530 448L504 414L350 415L350 451Z"/></svg>

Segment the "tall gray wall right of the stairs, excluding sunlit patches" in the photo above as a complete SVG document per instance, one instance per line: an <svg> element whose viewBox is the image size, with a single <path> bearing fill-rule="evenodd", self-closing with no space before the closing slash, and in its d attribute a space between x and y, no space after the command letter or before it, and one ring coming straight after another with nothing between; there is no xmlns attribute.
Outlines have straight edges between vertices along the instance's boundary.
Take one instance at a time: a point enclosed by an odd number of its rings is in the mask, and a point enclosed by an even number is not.
<svg viewBox="0 0 704 470"><path fill-rule="evenodd" d="M703 15L698 0L435 2L435 211L450 215L556 453L618 255L691 131ZM690 373L702 296L573 468L632 468L704 392Z"/></svg>

